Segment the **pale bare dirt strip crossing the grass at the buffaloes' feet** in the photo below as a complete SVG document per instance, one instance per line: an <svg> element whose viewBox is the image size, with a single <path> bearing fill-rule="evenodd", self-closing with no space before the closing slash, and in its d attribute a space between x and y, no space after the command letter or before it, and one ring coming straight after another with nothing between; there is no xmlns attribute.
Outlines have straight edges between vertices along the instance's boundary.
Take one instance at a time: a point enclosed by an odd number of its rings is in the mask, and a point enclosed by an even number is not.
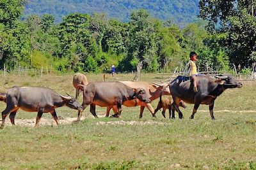
<svg viewBox="0 0 256 170"><path fill-rule="evenodd" d="M218 110L214 111L215 113L219 112L234 112L234 113L256 113L255 110ZM209 110L198 110L198 112L209 112ZM92 117L92 116L91 116ZM99 116L100 117L100 116ZM104 117L104 116L102 116ZM92 117L93 118L93 117ZM82 117L81 120L84 120L85 117ZM60 125L66 125L66 124L72 124L76 122L77 118L71 118L71 117L59 117L59 124ZM1 120L0 120L1 122ZM12 125L10 120L6 118L6 125ZM154 120L146 120L146 121L124 121L124 120L119 120L119 121L109 121L109 122L97 122L96 125L152 125L152 124L157 124L157 125L163 125L163 124L168 124L165 122L157 122ZM26 126L26 127L33 127L35 125L35 118L32 119L15 119L15 125L19 126ZM52 118L41 118L39 122L39 126L42 125L57 125L56 122Z"/></svg>

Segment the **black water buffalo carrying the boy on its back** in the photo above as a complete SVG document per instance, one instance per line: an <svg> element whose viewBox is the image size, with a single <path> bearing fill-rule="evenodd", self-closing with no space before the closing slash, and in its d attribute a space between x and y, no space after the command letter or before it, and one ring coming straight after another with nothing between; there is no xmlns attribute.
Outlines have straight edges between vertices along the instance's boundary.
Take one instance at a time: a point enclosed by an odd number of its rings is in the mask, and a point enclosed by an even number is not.
<svg viewBox="0 0 256 170"><path fill-rule="evenodd" d="M209 105L209 111L211 114L212 120L213 116L213 107L216 97L220 96L224 90L229 88L242 87L243 85L232 78L232 76L216 76L218 80L214 80L207 76L196 76L197 89L198 92L193 91L193 83L190 80L184 81L184 77L178 76L169 83L169 88L175 101L175 108L179 113L179 118L182 118L183 115L179 110L179 101L180 99L185 103L195 104L191 119L194 118L194 115L200 104Z"/></svg>

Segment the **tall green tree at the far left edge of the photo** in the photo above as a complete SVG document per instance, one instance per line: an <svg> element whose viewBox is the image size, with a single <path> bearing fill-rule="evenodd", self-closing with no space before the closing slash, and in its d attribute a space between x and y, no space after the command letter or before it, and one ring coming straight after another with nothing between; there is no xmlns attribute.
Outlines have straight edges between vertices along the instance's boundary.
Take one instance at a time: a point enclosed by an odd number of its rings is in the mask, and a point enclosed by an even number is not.
<svg viewBox="0 0 256 170"><path fill-rule="evenodd" d="M26 25L19 20L23 8L24 1L3 0L0 2L1 67L4 64L15 67L27 61L26 57L29 51L28 30Z"/></svg>

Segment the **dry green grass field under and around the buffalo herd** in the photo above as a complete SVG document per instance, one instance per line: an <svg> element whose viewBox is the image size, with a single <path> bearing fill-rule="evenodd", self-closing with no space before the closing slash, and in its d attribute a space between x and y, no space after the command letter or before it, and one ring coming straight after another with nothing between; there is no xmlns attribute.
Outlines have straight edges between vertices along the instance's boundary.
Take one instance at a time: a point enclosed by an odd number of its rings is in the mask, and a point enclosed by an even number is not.
<svg viewBox="0 0 256 170"><path fill-rule="evenodd" d="M102 80L102 74L86 76L89 81ZM159 81L154 76L142 74L141 80ZM75 94L72 74L0 78L1 91L42 85L63 95ZM106 81L129 78L133 75L107 75ZM256 82L242 83L241 89L228 89L216 99L214 121L205 105L189 120L193 105L188 105L181 109L182 120L164 119L161 111L152 118L146 109L139 119L138 106L124 107L119 119L95 119L88 107L78 124L6 125L0 130L0 169L256 169ZM152 102L154 108L157 102ZM0 110L5 106L0 103ZM96 110L105 115L106 108ZM77 111L67 107L56 112L63 118L77 117ZM16 120L27 118L34 120L36 113L18 111ZM43 118L52 119L49 113Z"/></svg>

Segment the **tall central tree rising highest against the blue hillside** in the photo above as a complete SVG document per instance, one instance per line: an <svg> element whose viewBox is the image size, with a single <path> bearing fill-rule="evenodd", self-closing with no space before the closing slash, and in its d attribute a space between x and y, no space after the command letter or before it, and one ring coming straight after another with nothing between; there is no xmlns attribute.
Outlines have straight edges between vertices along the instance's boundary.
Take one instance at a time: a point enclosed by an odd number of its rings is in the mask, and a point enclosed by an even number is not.
<svg viewBox="0 0 256 170"><path fill-rule="evenodd" d="M129 39L128 56L130 57L129 68L135 69L138 63L143 61L143 66L148 71L156 71L158 64L154 62L157 57L157 29L160 26L158 20L150 17L148 11L138 10L131 14L131 22L129 23ZM154 64L154 67L150 66Z"/></svg>

